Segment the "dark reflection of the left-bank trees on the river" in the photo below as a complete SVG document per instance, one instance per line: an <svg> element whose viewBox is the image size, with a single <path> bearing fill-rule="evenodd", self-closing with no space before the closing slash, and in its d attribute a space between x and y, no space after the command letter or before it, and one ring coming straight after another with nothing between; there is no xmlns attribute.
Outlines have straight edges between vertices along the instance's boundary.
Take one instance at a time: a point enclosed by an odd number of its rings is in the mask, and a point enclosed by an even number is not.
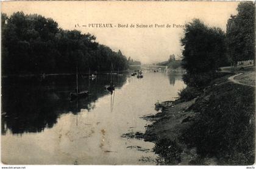
<svg viewBox="0 0 256 169"><path fill-rule="evenodd" d="M126 75L115 77L115 85L123 86ZM95 108L99 97L108 94L104 85L109 83L108 76L97 80L80 80L81 90L89 89L88 98L70 102L69 92L74 90L74 77L47 77L43 81L36 78L2 79L2 134L9 128L12 133L41 132L51 128L63 113L77 114L81 109Z"/></svg>

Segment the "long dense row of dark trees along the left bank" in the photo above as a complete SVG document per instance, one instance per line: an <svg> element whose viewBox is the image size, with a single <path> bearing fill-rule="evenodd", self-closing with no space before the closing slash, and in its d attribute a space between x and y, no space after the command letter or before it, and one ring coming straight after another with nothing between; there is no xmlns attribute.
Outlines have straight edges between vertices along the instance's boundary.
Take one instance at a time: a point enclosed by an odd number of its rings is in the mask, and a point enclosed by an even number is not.
<svg viewBox="0 0 256 169"><path fill-rule="evenodd" d="M90 33L63 30L57 22L41 15L2 13L2 73L41 74L79 71L120 71L127 58L97 43Z"/></svg>

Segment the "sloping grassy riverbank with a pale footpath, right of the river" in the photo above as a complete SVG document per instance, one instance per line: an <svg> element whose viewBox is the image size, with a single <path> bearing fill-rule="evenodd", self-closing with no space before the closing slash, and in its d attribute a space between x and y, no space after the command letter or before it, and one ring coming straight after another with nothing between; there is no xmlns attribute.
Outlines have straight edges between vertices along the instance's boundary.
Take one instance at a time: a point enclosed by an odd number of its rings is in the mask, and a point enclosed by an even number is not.
<svg viewBox="0 0 256 169"><path fill-rule="evenodd" d="M144 140L155 143L158 164L254 164L255 88L230 81L234 74L216 78L190 100L157 104L161 111L144 117L153 122Z"/></svg>

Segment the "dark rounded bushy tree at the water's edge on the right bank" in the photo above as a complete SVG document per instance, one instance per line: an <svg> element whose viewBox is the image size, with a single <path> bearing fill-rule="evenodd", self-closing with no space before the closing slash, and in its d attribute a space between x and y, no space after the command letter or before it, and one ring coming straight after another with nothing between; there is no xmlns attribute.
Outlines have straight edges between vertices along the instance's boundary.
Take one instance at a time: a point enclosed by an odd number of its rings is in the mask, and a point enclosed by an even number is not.
<svg viewBox="0 0 256 169"><path fill-rule="evenodd" d="M212 78L225 58L225 34L216 27L208 27L199 19L194 19L184 29L182 67L187 71L185 83L201 86L200 75ZM192 83L193 80L193 83Z"/></svg>

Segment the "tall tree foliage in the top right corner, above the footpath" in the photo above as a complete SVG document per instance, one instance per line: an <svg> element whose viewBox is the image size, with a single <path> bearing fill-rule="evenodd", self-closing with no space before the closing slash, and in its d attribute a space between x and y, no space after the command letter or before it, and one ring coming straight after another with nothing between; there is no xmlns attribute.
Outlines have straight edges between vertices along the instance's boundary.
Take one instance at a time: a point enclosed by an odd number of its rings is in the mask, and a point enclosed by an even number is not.
<svg viewBox="0 0 256 169"><path fill-rule="evenodd" d="M236 65L237 61L255 60L255 4L241 2L236 16L227 21L227 55ZM255 63L255 61L254 61Z"/></svg>

